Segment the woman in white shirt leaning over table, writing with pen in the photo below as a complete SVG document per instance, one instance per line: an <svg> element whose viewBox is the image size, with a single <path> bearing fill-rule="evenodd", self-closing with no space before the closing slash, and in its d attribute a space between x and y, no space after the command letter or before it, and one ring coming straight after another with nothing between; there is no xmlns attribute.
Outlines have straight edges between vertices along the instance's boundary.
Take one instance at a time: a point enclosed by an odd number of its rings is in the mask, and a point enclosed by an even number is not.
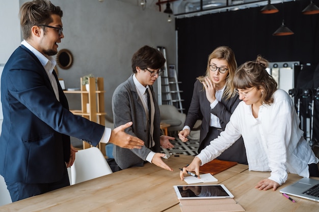
<svg viewBox="0 0 319 212"><path fill-rule="evenodd" d="M199 166L214 160L240 136L244 138L249 170L271 171L270 177L255 188L276 190L285 183L287 173L319 176L319 160L299 129L294 103L284 90L277 89L267 67L268 61L258 55L255 62L246 62L237 69L234 87L243 101L225 131L183 168L181 179L186 171L199 175Z"/></svg>

